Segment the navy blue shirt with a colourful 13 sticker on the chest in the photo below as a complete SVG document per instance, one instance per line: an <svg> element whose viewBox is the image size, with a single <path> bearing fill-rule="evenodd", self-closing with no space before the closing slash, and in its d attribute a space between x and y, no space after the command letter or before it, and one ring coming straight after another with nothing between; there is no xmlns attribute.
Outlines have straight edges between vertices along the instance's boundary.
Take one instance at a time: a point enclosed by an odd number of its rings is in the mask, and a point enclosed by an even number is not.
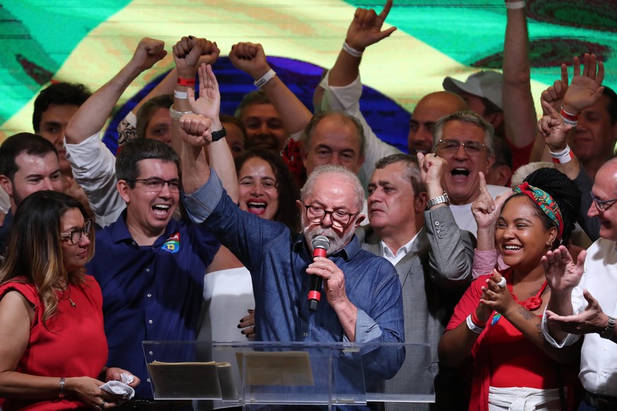
<svg viewBox="0 0 617 411"><path fill-rule="evenodd" d="M126 210L96 233L87 269L102 291L107 364L139 376L136 395L152 398L141 342L196 339L204 274L219 243L204 225L172 220L152 246L139 246L125 218Z"/></svg>

